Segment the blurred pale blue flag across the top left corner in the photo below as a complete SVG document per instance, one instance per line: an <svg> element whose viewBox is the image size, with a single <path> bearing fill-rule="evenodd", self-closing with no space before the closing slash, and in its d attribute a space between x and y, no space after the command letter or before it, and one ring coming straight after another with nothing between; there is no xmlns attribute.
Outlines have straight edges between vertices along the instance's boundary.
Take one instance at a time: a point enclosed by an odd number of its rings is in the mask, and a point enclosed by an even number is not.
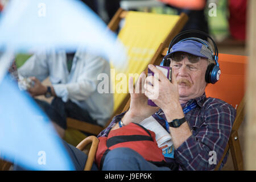
<svg viewBox="0 0 256 182"><path fill-rule="evenodd" d="M125 47L88 6L78 0L12 0L0 19L0 51L27 52L42 48L90 53L122 67Z"/></svg>

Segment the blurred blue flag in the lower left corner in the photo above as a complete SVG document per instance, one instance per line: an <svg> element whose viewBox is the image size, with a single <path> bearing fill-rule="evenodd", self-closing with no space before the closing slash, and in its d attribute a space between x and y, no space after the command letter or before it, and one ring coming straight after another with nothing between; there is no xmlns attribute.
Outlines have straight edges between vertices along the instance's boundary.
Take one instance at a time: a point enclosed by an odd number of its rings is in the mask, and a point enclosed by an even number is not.
<svg viewBox="0 0 256 182"><path fill-rule="evenodd" d="M31 170L73 170L52 123L26 92L6 76L0 85L0 152Z"/></svg>

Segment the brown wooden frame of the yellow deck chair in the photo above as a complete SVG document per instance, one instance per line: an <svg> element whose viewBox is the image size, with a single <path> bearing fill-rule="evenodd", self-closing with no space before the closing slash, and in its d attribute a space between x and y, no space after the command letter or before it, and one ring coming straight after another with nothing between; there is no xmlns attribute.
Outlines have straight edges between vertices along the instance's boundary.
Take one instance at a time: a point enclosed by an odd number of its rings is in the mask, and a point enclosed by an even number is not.
<svg viewBox="0 0 256 182"><path fill-rule="evenodd" d="M119 26L119 22L121 21L122 18L125 18L126 15L127 15L127 11L125 11L121 8L118 9L117 13L115 13L112 20L108 24L108 27L110 28L110 30L116 31ZM187 20L188 20L188 16L186 14L184 14L184 13L180 14L180 18L179 18L178 22L176 23L175 27L172 28L172 30L171 30L170 34L168 34L166 40L164 40L164 42L162 44L160 44L159 48L155 52L155 55L152 57L150 64L156 64L155 61L159 59L160 54L163 51L163 48L168 47L171 40L174 38L175 35L177 35L181 31L181 29L183 28L183 26L187 22ZM147 69L145 69L145 71L147 72ZM112 117L109 119L109 121L106 123L106 125L104 127L100 127L100 126L93 125L90 123L82 122L82 121L79 121L79 120L73 119L73 118L67 118L67 126L72 129L77 129L80 131L84 131L86 133L98 135L102 130L104 130L109 125L109 123L111 122L112 118L115 115L122 113L123 108L125 107L129 98L130 98L130 94L127 94L125 99L122 101L121 105L118 107L117 110L115 110L113 112Z"/></svg>

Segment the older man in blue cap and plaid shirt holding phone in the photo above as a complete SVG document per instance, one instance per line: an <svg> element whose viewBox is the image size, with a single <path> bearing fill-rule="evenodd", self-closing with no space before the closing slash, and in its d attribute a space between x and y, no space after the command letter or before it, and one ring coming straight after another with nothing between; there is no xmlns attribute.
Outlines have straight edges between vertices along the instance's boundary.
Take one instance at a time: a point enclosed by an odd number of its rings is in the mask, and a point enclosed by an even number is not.
<svg viewBox="0 0 256 182"><path fill-rule="evenodd" d="M170 132L174 144L174 159L166 158L169 163L177 164L179 170L212 170L222 158L232 129L236 110L224 101L205 96L209 64L214 63L213 51L208 42L201 40L185 40L176 43L168 55L171 59L172 82L154 65L148 65L159 78L139 77L136 86L143 85L145 92L134 93L130 86L130 109L113 118L109 127L98 136L108 136L113 130L131 122L140 123L152 115L164 128L164 121L177 122L178 127L170 125L166 128ZM204 45L208 45L205 48ZM202 54L202 47L204 52ZM193 50L193 51L191 51ZM144 84L143 84L144 80ZM156 105L147 105L148 98L154 98L154 82L158 81L159 96L154 99ZM132 85L133 80L130 80ZM157 113L155 113L158 111ZM185 112L184 112L185 111ZM161 115L162 118L156 117ZM120 125L121 123L121 125ZM216 162L209 162L212 154L216 154ZM214 156L215 157L215 156ZM225 164L225 156L221 167ZM118 161L122 160L120 163ZM167 169L157 167L147 162L137 152L129 148L116 148L105 156L102 169L123 170L151 170Z"/></svg>

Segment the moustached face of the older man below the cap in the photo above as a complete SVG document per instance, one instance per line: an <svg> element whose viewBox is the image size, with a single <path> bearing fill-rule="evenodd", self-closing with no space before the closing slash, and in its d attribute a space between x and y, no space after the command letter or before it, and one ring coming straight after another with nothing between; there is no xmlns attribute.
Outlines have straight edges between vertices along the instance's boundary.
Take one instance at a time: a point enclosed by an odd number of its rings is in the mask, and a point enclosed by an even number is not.
<svg viewBox="0 0 256 182"><path fill-rule="evenodd" d="M207 85L205 82L207 66L208 61L203 58L196 63L191 63L187 56L181 61L171 60L170 67L177 79L180 100L191 100L204 93Z"/></svg>

